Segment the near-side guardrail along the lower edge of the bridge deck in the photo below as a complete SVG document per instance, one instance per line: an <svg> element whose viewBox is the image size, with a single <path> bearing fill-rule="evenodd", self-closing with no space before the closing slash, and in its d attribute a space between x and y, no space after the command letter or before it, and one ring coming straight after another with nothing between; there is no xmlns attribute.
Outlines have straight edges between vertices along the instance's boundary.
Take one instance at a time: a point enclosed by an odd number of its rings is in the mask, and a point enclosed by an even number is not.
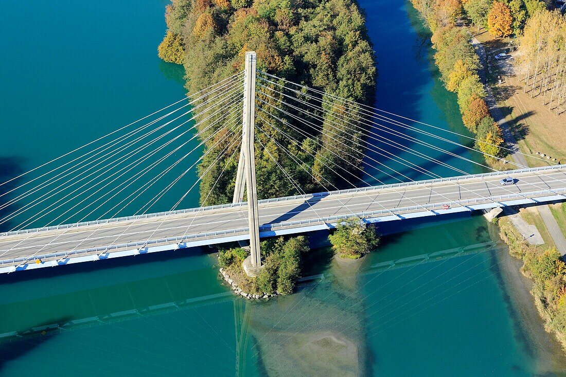
<svg viewBox="0 0 566 377"><path fill-rule="evenodd" d="M532 196L533 202L535 202L534 198L537 196L542 196L544 194L556 194L557 192L564 192L566 194L566 187L563 188L556 188L552 190L538 190L538 191L530 191L530 192L521 192L516 194L505 194L505 195L496 195L496 196L486 196L481 198L471 198L471 199L461 199L461 200L452 200L448 202L440 202L434 204L423 204L423 205L410 205L407 207L399 207L399 208L392 208L392 209L379 209L376 211L368 211L368 212L358 212L358 213L351 213L348 215L335 215L335 216L327 216L327 217L320 217L317 219L305 219L305 220L295 220L295 221L287 221L287 222L280 222L277 224L264 224L259 227L260 231L263 230L273 230L274 228L288 228L297 225L311 225L311 224L320 224L320 223L332 223L342 219L348 219L350 217L361 217L362 219L371 219L374 217L380 217L379 215L395 215L400 216L402 213L410 213L414 212L415 210L421 209L424 211L432 211L433 209L441 209L448 205L452 207L453 205L458 205L460 207L466 207L469 204L478 204L482 202L494 202L495 204L500 204L498 202L503 201L505 199L513 199L513 198L528 198ZM501 204L502 206L502 204ZM198 234L191 234L191 235L183 235L181 237L169 237L169 238L160 238L154 239L152 241L140 241L140 242L129 242L129 243L121 243L118 245L112 246L100 246L100 247L92 247L88 249L82 250L75 250L72 252L55 252L50 254L44 255L35 255L33 259L50 259L50 258L59 258L59 257L68 257L68 256L80 256L80 255L87 255L92 252L102 251L105 254L110 250L115 249L125 249L127 247L138 247L138 246L148 246L148 245L155 245L156 243L166 243L166 242L174 242L174 243L181 243L191 240L198 240L203 238L209 237L217 237L218 235L230 235L230 234L239 234L248 232L248 227L245 228L237 228L237 229L229 229L229 230L217 230L215 232L207 232L207 233L198 233ZM22 256L19 258L12 258L12 259L5 259L0 260L0 265L5 264L15 264L15 263L22 263L29 260L29 256Z"/></svg>

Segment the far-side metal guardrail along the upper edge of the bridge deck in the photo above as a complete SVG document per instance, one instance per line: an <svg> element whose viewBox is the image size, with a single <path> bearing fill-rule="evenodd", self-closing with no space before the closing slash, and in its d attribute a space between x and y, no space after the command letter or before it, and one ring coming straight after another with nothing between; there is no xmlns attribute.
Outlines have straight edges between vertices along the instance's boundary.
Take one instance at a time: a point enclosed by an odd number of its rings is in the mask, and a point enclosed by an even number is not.
<svg viewBox="0 0 566 377"><path fill-rule="evenodd" d="M348 194L348 193L350 193L350 192L362 192L362 191L372 191L372 190L383 190L383 189L385 189L385 188L405 187L405 186L416 186L416 185L426 185L426 184L428 184L428 183L438 183L438 182L462 181L462 180L466 180L466 181L467 181L467 180L469 180L469 179L483 178L483 177L493 177L493 176L495 176L495 175L511 175L511 174L538 172L538 171L542 171L542 170L558 170L558 169L563 169L563 168L566 168L566 165L541 166L541 167L539 167L539 168L516 169L516 170L508 170L508 171L506 171L506 172L491 172L491 173L480 173L480 174L470 174L470 175L459 175L459 176L456 176L456 177L425 179L425 180L423 180L423 181L390 183L389 185L368 186L368 187L360 187L360 188L348 188L348 189L345 189L345 190L316 192L315 194L283 196L283 197L281 197L281 198L261 199L261 200L258 200L258 202L259 202L259 203L284 202L284 201L286 201L286 200L297 200L297 199L317 198L317 197L319 197L319 196L330 196L330 195L338 195L338 194ZM212 209L221 209L221 208L230 208L230 207L242 207L242 206L247 206L247 202L208 205L207 207L178 209L177 211L165 211L165 212L147 213L147 214L145 214L145 215L115 217L114 219L83 221L83 222L76 222L76 223L74 223L74 224L63 224L63 225L44 226L43 228L32 228L32 229L12 230L11 232L3 232L3 233L0 233L0 237L4 237L4 236L6 236L6 235L14 235L14 234L27 234L27 233L44 232L45 230L70 229L70 228L76 228L76 227L78 227L78 226L109 224L109 223L118 222L118 221L139 220L139 219L151 219L151 218L153 218L153 217L158 217L158 216L180 215L180 214L183 214L183 213L195 213L195 212L199 212L199 211L210 211L210 210L212 210Z"/></svg>

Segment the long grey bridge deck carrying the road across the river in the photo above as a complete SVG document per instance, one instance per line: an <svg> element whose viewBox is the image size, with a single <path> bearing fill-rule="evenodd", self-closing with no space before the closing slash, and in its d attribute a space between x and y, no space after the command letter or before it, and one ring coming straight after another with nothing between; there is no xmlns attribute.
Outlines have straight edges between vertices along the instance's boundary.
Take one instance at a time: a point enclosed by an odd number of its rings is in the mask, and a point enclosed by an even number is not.
<svg viewBox="0 0 566 377"><path fill-rule="evenodd" d="M500 186L507 175L515 185ZM301 232L308 224L336 222L334 216L358 214L368 219L401 219L408 213L444 213L451 208L478 208L478 204L509 202L516 199L566 198L566 166L531 172L508 172L481 177L462 177L432 183L411 182L402 187L376 186L372 190L337 192L310 199L286 199L260 203L261 229L293 229ZM545 199L546 200L546 199ZM476 205L476 207L474 207ZM31 233L0 235L0 267L21 265L23 260L61 259L63 256L104 254L135 247L179 243L191 239L225 239L246 234L247 208L208 208L195 212L122 220L67 229L38 230ZM208 243L215 243L214 241Z"/></svg>

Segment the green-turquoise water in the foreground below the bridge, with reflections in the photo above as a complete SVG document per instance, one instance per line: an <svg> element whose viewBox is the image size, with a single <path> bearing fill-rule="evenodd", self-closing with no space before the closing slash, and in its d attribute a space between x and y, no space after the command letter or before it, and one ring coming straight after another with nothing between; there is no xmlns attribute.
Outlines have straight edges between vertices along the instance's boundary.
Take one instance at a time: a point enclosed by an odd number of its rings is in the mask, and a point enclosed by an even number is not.
<svg viewBox="0 0 566 377"><path fill-rule="evenodd" d="M63 352L72 370L94 367L93 354L104 359L87 376L414 375L423 365L434 374L530 375L535 356L513 335L496 279L501 246L473 217L384 236L362 260L339 263L316 249L298 292L268 301L235 297L215 257L194 251L5 281L0 332L24 337L4 340L22 352L3 365L7 374L23 365L19 375L54 372Z"/></svg>

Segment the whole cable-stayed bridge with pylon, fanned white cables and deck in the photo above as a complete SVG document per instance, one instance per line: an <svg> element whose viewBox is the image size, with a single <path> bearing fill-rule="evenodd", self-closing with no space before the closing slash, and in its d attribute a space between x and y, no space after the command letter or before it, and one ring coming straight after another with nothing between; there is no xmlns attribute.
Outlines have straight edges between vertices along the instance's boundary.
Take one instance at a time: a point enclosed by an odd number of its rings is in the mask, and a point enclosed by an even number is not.
<svg viewBox="0 0 566 377"><path fill-rule="evenodd" d="M260 237L329 229L346 217L399 221L566 199L566 165L528 168L508 161L517 169L498 172L468 157L472 152L496 156L460 140L485 142L288 82L257 70L255 63L255 54L248 53L244 72L2 183L0 225L10 228L0 233L0 272L243 240L250 240L252 265L260 265ZM140 126L144 119L151 120ZM324 155L302 144L315 131L331 141L315 139ZM297 149L289 150L281 140ZM360 147L368 151L363 160ZM254 148L273 160L297 195L258 200ZM297 157L301 148L323 169L305 167ZM187 163L192 153L199 157ZM407 155L413 158L402 157ZM196 182L170 210L152 212L207 156L212 162L199 169ZM281 156L296 162L297 170L285 169ZM223 158L228 162L221 166ZM217 174L214 185L224 182L222 175L236 161L232 203L178 209L205 175ZM453 161L492 172L469 174ZM456 176L440 177L432 165ZM301 169L325 191L305 192L296 177ZM431 179L414 181L408 170ZM340 177L351 188L337 190L320 172ZM398 183L385 185L375 172ZM516 183L500 185L509 175ZM379 185L367 185L363 178ZM164 187L155 189L163 181ZM213 188L201 196L203 205ZM146 192L155 195L143 199L132 216L117 217ZM29 226L42 219L45 226Z"/></svg>

